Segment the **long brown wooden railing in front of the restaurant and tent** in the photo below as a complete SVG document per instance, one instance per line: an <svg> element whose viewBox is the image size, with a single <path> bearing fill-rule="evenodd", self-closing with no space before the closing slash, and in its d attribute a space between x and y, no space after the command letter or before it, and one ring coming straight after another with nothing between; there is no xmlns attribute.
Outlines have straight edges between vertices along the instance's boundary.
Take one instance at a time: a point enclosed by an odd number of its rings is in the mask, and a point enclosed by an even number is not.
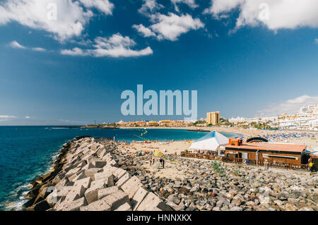
<svg viewBox="0 0 318 225"><path fill-rule="evenodd" d="M222 162L230 162L236 164L247 164L247 165L258 165L258 166L269 166L273 168L281 168L281 169L300 169L300 170L308 170L307 164L292 164L292 163L283 163L276 162L273 160L256 160L256 159L241 159L241 158L233 158L233 157L218 157L216 154L200 154L200 153L188 153L181 152L181 157L194 158L194 159L220 159Z"/></svg>

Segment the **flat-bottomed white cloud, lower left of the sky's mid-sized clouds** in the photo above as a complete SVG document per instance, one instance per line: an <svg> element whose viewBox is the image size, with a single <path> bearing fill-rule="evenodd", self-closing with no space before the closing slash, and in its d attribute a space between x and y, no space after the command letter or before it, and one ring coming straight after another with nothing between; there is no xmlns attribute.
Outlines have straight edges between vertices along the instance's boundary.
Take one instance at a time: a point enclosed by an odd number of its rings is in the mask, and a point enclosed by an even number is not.
<svg viewBox="0 0 318 225"><path fill-rule="evenodd" d="M123 37L121 34L117 33L112 35L112 37L97 37L95 38L94 49L63 49L61 54L71 55L71 56L95 56L95 57L132 57L132 56L146 56L153 54L151 47L146 47L141 50L133 50L136 42L130 39L128 36Z"/></svg>

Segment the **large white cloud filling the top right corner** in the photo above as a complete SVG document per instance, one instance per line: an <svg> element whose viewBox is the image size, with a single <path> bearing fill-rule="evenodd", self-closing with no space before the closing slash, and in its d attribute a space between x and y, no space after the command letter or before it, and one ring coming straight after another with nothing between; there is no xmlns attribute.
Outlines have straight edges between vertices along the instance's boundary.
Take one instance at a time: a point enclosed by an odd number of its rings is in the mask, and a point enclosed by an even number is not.
<svg viewBox="0 0 318 225"><path fill-rule="evenodd" d="M317 0L213 0L204 13L224 18L239 9L236 27L265 25L270 30L318 28Z"/></svg>

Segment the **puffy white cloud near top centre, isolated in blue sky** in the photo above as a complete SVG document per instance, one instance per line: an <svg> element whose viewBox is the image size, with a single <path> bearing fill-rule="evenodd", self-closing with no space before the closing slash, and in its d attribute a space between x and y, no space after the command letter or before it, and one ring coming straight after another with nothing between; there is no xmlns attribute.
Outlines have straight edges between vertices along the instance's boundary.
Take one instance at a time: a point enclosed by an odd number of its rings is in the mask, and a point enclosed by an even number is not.
<svg viewBox="0 0 318 225"><path fill-rule="evenodd" d="M145 32L155 34L157 39L169 39L176 41L178 37L189 30L204 28L204 23L199 18L192 18L189 14L178 16L175 13L168 13L168 16L156 13L151 16L154 24L148 30L143 29L143 25L136 25L139 32L145 36ZM151 32L149 32L149 30ZM145 36L146 37L146 36Z"/></svg>

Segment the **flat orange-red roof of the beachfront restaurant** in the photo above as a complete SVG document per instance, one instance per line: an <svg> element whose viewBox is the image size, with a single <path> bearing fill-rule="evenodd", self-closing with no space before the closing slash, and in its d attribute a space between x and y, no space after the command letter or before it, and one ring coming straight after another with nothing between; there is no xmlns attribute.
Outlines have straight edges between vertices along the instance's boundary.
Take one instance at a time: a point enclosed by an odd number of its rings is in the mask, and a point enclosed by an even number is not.
<svg viewBox="0 0 318 225"><path fill-rule="evenodd" d="M302 152L305 150L307 145L288 145L280 143L269 143L269 142L249 142L242 143L242 145L226 145L225 147L232 147L237 150L247 149L247 150L265 150L265 151L281 151L281 152Z"/></svg>

